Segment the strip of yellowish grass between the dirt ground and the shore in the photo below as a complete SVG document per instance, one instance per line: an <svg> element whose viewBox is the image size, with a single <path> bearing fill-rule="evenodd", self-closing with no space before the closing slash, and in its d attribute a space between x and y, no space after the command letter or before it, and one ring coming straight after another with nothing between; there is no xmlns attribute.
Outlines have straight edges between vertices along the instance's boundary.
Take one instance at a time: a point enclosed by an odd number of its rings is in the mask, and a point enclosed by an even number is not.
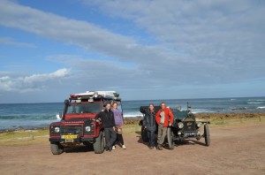
<svg viewBox="0 0 265 175"><path fill-rule="evenodd" d="M260 121L261 119L261 121ZM225 118L211 119L210 127L222 126L250 126L265 123L265 118ZM139 125L125 125L125 135L140 134ZM0 133L0 146L21 146L44 143L49 144L49 130L26 130Z"/></svg>

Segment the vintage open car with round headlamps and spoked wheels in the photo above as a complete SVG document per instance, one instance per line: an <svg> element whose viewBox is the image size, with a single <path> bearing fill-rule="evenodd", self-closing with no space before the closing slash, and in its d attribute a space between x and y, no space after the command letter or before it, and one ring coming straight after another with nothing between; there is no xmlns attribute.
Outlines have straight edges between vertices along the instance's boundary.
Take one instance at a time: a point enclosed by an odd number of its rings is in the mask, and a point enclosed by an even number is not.
<svg viewBox="0 0 265 175"><path fill-rule="evenodd" d="M159 110L159 106L155 106L155 111ZM148 106L141 106L140 112L145 118ZM176 141L184 141L185 139L195 138L200 141L203 137L205 140L205 145L210 145L210 134L208 130L209 121L196 121L194 114L191 111L189 103L187 103L187 110L181 110L181 108L170 108L174 115L174 123L172 126L168 127L166 142L168 148L173 149L175 147ZM140 126L142 126L142 120L140 121ZM201 134L200 129L203 127L203 134ZM141 138L142 141L148 141L148 134L144 126L141 127Z"/></svg>

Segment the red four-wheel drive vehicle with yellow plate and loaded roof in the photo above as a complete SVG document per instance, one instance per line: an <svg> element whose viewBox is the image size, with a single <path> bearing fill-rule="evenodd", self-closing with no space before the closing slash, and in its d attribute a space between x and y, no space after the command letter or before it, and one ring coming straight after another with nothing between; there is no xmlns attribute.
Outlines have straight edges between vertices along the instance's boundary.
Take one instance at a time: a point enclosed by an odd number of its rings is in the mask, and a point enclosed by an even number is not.
<svg viewBox="0 0 265 175"><path fill-rule="evenodd" d="M50 150L53 155L64 152L66 147L93 145L96 154L105 147L105 138L101 123L95 122L95 116L104 110L106 103L117 102L122 111L121 99L115 91L87 91L70 95L64 101L61 121L49 125ZM123 112L122 112L123 113Z"/></svg>

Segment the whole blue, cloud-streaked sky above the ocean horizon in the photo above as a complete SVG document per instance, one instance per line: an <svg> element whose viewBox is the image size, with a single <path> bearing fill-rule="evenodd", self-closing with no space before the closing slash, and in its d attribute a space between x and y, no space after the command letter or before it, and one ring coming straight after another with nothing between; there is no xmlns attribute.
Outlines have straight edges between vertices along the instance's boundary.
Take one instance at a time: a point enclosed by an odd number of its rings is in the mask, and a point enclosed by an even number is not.
<svg viewBox="0 0 265 175"><path fill-rule="evenodd" d="M265 96L263 0L0 0L0 103Z"/></svg>

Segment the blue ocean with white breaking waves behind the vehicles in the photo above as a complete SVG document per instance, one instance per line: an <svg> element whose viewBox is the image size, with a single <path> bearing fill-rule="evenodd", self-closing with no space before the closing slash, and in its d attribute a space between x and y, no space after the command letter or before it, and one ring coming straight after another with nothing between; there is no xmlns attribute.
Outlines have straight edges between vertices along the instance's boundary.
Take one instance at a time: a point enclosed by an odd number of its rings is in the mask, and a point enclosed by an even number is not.
<svg viewBox="0 0 265 175"><path fill-rule="evenodd" d="M161 102L170 108L181 107L182 110L186 110L186 103L189 103L193 113L265 113L265 97L172 99L123 101L124 117L142 116L140 106L149 103L159 105ZM63 110L64 103L0 103L0 130L48 127L49 123L60 120L58 114Z"/></svg>

